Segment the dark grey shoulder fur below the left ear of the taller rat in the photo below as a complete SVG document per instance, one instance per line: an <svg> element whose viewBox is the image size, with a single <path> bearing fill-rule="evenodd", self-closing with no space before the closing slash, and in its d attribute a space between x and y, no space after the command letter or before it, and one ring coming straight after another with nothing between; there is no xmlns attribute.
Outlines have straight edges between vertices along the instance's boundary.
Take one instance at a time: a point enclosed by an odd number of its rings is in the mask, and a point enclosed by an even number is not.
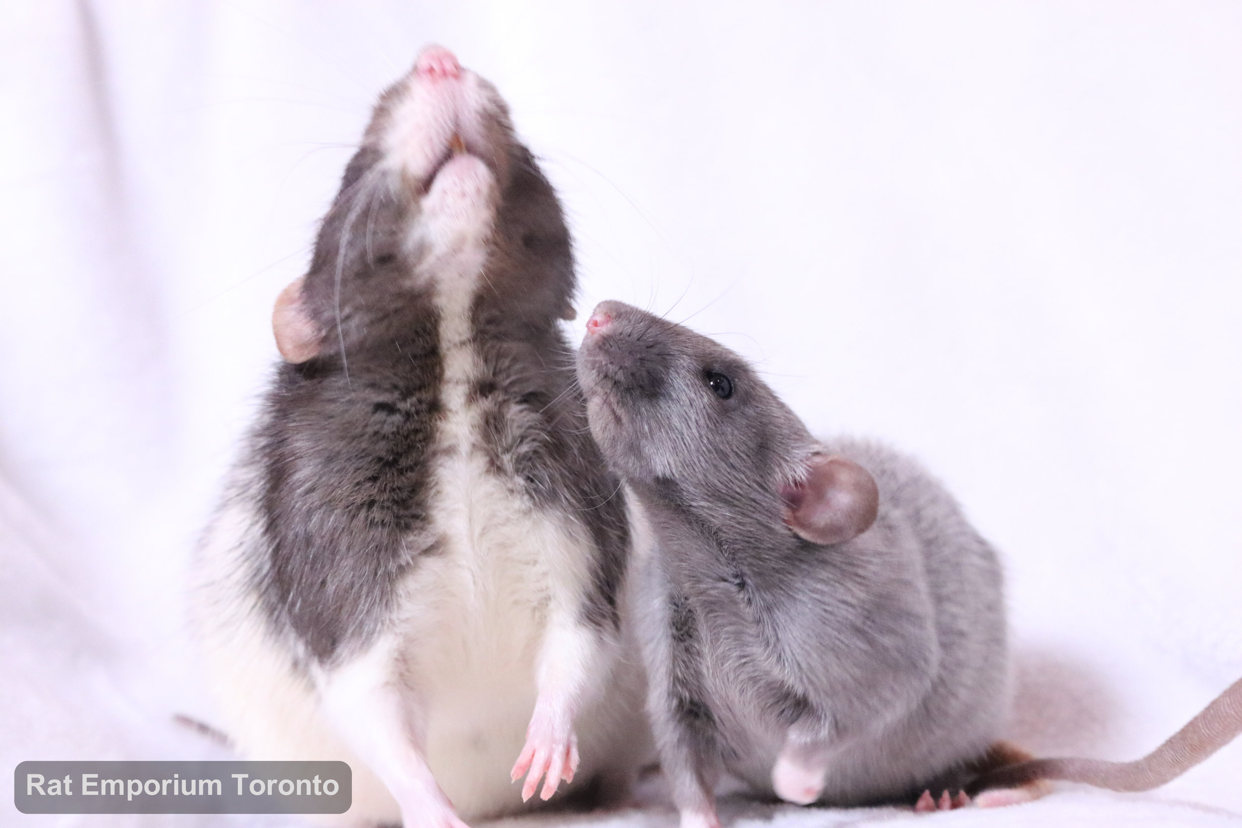
<svg viewBox="0 0 1242 828"><path fill-rule="evenodd" d="M258 433L270 561L261 595L318 659L374 636L426 528L440 416L437 315L409 297L390 336L282 365Z"/></svg>

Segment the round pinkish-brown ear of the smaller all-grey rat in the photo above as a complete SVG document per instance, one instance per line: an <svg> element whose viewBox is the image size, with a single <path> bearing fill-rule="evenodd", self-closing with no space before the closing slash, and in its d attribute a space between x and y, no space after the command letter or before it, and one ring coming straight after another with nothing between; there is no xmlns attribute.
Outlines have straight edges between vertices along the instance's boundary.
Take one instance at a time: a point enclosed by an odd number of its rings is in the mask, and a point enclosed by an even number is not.
<svg viewBox="0 0 1242 828"><path fill-rule="evenodd" d="M879 510L879 489L863 467L816 454L806 479L781 489L785 525L812 544L843 544L867 531Z"/></svg>

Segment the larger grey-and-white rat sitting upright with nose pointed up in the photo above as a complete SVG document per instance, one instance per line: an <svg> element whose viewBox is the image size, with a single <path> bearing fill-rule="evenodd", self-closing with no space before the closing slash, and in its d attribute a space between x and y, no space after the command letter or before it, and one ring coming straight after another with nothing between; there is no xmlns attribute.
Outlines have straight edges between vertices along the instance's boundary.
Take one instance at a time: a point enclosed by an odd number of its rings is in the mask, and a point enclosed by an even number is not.
<svg viewBox="0 0 1242 828"><path fill-rule="evenodd" d="M558 326L574 288L504 102L428 47L276 303L284 362L199 556L229 736L349 760L350 824L461 828L643 760L627 515Z"/></svg>

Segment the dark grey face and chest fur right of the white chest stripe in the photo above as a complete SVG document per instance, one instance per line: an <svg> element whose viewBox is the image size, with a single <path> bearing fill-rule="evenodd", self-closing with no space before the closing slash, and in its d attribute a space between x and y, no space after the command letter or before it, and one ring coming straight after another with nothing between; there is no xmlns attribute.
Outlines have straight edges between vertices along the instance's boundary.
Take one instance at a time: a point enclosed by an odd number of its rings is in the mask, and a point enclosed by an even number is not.
<svg viewBox="0 0 1242 828"><path fill-rule="evenodd" d="M615 628L630 549L625 499L591 439L573 349L549 317L569 305L574 289L569 232L524 148L515 148L510 171L499 240L472 314L483 365L473 398L497 473L522 480L535 504L570 514L590 533L597 555L584 618Z"/></svg>

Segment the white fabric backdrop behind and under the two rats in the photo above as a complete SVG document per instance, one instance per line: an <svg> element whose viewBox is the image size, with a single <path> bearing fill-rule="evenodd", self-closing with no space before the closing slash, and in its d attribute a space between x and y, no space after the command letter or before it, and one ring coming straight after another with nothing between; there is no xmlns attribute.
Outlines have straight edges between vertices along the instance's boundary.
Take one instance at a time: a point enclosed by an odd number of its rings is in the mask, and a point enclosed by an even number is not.
<svg viewBox="0 0 1242 828"><path fill-rule="evenodd" d="M5 767L207 750L168 724L211 715L186 555L272 300L431 41L544 159L581 318L671 310L948 482L1006 559L1015 736L1131 757L1242 675L1242 6L7 0ZM1237 822L1240 771L938 818Z"/></svg>

